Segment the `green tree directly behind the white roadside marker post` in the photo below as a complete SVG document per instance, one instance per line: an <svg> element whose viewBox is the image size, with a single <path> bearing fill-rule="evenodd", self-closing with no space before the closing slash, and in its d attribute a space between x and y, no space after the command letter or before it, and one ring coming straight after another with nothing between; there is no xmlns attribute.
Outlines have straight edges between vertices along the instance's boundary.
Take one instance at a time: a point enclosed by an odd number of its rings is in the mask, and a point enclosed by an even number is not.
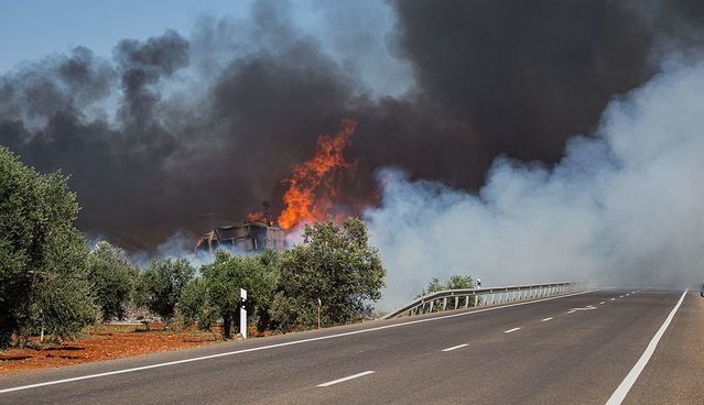
<svg viewBox="0 0 704 405"><path fill-rule="evenodd" d="M223 319L223 336L231 336L232 322L239 319L240 288L247 291L247 310L258 329L268 328L269 308L280 278L279 253L232 255L218 251L215 261L201 269L208 303Z"/></svg>

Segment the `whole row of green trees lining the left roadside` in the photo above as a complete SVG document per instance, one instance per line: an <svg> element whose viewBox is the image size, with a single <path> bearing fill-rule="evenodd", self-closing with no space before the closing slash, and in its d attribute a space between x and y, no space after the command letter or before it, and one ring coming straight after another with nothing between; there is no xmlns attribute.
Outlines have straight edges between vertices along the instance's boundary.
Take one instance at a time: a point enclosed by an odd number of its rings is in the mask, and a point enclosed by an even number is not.
<svg viewBox="0 0 704 405"><path fill-rule="evenodd" d="M79 209L61 172L40 174L0 146L0 350L72 338L130 309L227 339L239 332L240 288L261 333L356 322L371 317L385 285L358 218L306 226L304 242L282 251L218 251L199 269L160 258L140 269L108 242L89 250L75 227Z"/></svg>

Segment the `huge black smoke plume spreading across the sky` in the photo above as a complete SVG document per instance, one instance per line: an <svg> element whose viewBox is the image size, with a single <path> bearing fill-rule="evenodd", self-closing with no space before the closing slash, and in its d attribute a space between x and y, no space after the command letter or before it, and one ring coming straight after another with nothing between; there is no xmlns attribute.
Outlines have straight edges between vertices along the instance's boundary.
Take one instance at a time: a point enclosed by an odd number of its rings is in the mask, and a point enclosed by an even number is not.
<svg viewBox="0 0 704 405"><path fill-rule="evenodd" d="M290 9L260 2L246 22L203 18L188 37L120 41L110 59L77 47L18 65L0 77L0 144L72 176L82 229L148 249L262 200L280 209L291 165L346 117L359 122L350 204L371 198L381 166L473 191L497 155L553 164L610 99L657 73L664 50L698 46L704 24L694 1L376 7L393 9L388 47L413 73L401 96L348 68L367 51L353 41L364 24L339 57Z"/></svg>

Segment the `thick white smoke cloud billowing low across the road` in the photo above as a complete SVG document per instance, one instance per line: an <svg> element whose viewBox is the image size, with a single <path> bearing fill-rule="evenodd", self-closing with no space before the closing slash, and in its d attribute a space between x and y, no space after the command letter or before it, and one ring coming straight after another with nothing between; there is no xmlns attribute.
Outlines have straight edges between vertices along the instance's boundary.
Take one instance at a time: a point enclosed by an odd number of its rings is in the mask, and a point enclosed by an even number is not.
<svg viewBox="0 0 704 405"><path fill-rule="evenodd" d="M500 157L478 196L386 168L382 204L365 214L388 270L379 307L455 273L485 286L704 282L703 174L704 62L675 57L555 167Z"/></svg>

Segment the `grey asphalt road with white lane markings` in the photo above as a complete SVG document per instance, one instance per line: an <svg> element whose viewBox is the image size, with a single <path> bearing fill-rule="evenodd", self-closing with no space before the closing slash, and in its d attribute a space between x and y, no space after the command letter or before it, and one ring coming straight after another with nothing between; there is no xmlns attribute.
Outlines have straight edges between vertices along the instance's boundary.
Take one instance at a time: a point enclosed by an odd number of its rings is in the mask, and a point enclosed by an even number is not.
<svg viewBox="0 0 704 405"><path fill-rule="evenodd" d="M0 404L605 404L682 297L630 293L599 291L10 375L0 377ZM66 379L77 380L59 381ZM684 296L624 403L704 403L698 292Z"/></svg>

